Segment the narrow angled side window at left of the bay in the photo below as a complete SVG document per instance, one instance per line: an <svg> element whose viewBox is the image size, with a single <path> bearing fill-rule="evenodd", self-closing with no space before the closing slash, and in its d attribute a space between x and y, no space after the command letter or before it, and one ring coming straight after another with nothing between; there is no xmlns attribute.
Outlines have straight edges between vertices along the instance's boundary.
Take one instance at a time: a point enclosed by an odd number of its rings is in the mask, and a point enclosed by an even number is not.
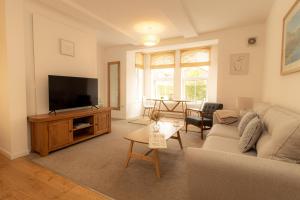
<svg viewBox="0 0 300 200"><path fill-rule="evenodd" d="M136 101L141 102L144 96L144 54L135 54Z"/></svg>

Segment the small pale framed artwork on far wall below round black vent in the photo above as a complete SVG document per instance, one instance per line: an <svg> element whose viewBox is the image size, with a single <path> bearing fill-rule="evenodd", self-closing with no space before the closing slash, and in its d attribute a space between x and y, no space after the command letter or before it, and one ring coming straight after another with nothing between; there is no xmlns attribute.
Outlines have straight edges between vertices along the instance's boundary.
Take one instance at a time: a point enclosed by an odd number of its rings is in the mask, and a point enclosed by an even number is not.
<svg viewBox="0 0 300 200"><path fill-rule="evenodd" d="M230 56L230 74L247 75L249 72L249 53L232 54Z"/></svg>

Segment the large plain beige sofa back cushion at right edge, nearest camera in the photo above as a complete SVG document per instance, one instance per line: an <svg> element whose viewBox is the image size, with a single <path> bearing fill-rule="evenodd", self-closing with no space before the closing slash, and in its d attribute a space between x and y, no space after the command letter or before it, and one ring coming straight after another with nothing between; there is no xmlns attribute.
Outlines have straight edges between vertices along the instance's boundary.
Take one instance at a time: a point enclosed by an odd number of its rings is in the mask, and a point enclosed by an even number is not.
<svg viewBox="0 0 300 200"><path fill-rule="evenodd" d="M274 106L263 121L266 130L257 142L258 156L300 163L300 115Z"/></svg>

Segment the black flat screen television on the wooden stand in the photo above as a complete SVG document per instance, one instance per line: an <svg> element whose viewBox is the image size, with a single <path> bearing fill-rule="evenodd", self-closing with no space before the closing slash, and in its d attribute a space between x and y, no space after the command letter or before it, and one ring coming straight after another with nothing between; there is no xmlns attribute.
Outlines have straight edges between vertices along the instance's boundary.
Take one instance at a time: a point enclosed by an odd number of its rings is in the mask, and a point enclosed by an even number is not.
<svg viewBox="0 0 300 200"><path fill-rule="evenodd" d="M98 79L48 75L49 110L98 105Z"/></svg>

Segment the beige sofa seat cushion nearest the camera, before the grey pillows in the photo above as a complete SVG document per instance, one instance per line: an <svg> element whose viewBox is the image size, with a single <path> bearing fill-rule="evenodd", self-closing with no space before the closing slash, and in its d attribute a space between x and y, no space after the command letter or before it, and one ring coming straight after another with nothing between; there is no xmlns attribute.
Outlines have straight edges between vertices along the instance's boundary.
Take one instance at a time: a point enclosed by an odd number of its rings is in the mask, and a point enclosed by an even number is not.
<svg viewBox="0 0 300 200"><path fill-rule="evenodd" d="M256 152L254 150L248 151L246 153L241 153L239 149L238 139L225 138L220 136L209 136L202 148L207 150L236 153L240 155L256 156Z"/></svg>

